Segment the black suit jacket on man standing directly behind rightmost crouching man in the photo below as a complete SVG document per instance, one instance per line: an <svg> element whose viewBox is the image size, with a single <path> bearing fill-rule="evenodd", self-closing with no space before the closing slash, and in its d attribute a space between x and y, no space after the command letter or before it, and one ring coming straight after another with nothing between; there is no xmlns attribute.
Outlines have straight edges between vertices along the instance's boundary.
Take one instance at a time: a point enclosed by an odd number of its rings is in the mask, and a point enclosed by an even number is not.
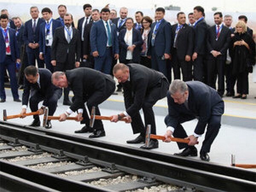
<svg viewBox="0 0 256 192"><path fill-rule="evenodd" d="M177 29L178 24L172 26L172 49L175 39L175 31ZM194 31L193 28L187 25L186 23L182 26L182 28L177 33L175 47L177 50L177 57L180 61L185 60L185 56L193 55L194 48Z"/></svg>

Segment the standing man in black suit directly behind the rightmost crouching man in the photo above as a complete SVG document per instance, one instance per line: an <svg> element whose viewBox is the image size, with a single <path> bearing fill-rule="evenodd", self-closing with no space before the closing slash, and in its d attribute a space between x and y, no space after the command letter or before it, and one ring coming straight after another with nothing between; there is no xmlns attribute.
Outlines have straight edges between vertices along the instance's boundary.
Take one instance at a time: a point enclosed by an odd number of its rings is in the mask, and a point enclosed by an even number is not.
<svg viewBox="0 0 256 192"><path fill-rule="evenodd" d="M192 80L192 61L194 46L193 28L186 24L186 15L177 14L178 23L172 26L172 67L174 79L180 79L180 67L183 81Z"/></svg>

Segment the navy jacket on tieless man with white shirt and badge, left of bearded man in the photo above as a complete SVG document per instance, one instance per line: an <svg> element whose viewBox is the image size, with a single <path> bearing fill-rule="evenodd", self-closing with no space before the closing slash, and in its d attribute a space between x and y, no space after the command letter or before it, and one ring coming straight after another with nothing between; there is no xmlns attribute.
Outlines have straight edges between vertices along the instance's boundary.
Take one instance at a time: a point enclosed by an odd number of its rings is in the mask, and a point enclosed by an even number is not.
<svg viewBox="0 0 256 192"><path fill-rule="evenodd" d="M59 20L52 19L52 37L54 37L55 29L61 27L62 24ZM45 54L45 22L40 25L39 32L39 52L43 52Z"/></svg>

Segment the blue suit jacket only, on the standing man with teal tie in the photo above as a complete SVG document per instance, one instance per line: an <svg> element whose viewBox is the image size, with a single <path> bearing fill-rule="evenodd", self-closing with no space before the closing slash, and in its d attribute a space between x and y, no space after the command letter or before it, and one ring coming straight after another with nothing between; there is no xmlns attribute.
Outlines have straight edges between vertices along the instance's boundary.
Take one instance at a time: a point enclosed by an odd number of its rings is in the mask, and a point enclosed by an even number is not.
<svg viewBox="0 0 256 192"><path fill-rule="evenodd" d="M111 27L111 40L112 40L112 51L114 54L119 54L118 38L116 33L116 25L110 21ZM103 23L103 20L95 22L90 31L90 45L92 52L98 51L99 56L105 54L107 49L108 36Z"/></svg>

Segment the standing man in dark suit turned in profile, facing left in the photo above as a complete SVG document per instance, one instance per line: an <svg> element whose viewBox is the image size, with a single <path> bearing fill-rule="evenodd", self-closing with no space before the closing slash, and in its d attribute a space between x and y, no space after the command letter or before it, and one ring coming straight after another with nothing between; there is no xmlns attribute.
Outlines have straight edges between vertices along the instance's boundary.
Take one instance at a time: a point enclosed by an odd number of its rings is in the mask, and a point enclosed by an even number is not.
<svg viewBox="0 0 256 192"><path fill-rule="evenodd" d="M194 64L194 80L204 81L204 55L206 47L206 33L207 24L204 20L204 8L196 6L194 8L194 23L195 42L194 53L192 55L192 61Z"/></svg>

